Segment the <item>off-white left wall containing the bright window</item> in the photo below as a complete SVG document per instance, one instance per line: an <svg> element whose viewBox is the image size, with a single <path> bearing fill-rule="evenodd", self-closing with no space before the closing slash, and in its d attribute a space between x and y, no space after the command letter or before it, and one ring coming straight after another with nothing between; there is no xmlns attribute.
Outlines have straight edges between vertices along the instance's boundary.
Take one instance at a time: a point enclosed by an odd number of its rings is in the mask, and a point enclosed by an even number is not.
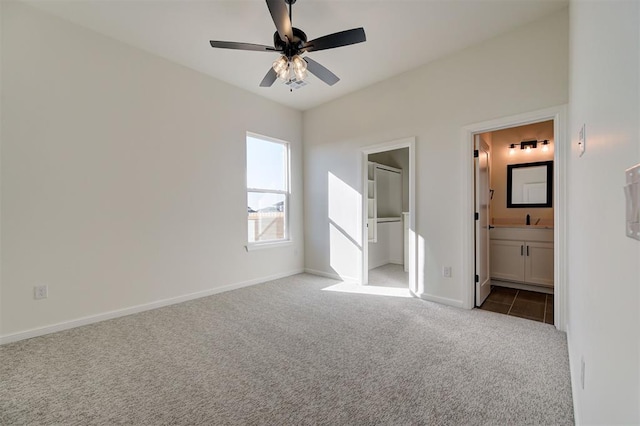
<svg viewBox="0 0 640 426"><path fill-rule="evenodd" d="M302 270L300 112L2 9L0 335ZM245 250L246 131L292 144L292 246Z"/></svg>

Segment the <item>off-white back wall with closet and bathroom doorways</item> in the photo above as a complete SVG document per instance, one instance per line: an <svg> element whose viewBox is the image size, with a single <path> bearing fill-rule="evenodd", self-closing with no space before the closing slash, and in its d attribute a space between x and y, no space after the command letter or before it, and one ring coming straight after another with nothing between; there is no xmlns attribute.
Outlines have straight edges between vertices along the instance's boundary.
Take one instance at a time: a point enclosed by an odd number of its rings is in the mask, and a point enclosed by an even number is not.
<svg viewBox="0 0 640 426"><path fill-rule="evenodd" d="M462 306L465 125L560 105L568 99L568 11L563 10L473 48L322 105L303 114L305 141L305 266L361 276L357 218L331 217L342 182L360 214L360 150L416 136L418 292ZM330 124L330 125L329 125ZM343 203L344 204L344 203ZM346 205L345 205L346 206ZM345 208L349 208L346 206ZM413 213L413 212L412 212ZM345 213L346 214L346 213ZM453 267L442 278L442 266Z"/></svg>

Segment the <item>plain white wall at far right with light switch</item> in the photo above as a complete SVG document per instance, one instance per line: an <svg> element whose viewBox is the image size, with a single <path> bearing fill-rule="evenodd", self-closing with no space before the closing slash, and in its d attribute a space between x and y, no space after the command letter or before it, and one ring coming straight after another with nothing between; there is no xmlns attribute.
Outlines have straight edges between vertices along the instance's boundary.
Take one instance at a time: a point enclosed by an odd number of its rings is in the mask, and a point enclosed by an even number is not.
<svg viewBox="0 0 640 426"><path fill-rule="evenodd" d="M570 8L568 338L576 417L639 424L640 242L625 237L622 187L624 170L640 162L640 7L574 1ZM578 157L582 124L587 151Z"/></svg>

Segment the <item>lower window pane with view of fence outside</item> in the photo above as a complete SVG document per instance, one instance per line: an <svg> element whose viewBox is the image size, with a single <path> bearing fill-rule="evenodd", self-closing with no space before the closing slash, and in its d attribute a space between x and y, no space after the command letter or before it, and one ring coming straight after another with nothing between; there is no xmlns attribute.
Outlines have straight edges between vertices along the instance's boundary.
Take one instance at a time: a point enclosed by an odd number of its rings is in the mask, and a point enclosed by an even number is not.
<svg viewBox="0 0 640 426"><path fill-rule="evenodd" d="M248 192L247 203L250 243L286 238L284 194Z"/></svg>

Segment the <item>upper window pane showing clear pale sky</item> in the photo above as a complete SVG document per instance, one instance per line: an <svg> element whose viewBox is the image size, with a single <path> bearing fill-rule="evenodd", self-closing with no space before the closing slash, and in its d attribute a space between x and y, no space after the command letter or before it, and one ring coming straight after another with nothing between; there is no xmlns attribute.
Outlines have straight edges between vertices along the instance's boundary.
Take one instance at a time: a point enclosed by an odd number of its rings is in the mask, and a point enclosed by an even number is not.
<svg viewBox="0 0 640 426"><path fill-rule="evenodd" d="M247 136L247 187L287 189L287 146Z"/></svg>

